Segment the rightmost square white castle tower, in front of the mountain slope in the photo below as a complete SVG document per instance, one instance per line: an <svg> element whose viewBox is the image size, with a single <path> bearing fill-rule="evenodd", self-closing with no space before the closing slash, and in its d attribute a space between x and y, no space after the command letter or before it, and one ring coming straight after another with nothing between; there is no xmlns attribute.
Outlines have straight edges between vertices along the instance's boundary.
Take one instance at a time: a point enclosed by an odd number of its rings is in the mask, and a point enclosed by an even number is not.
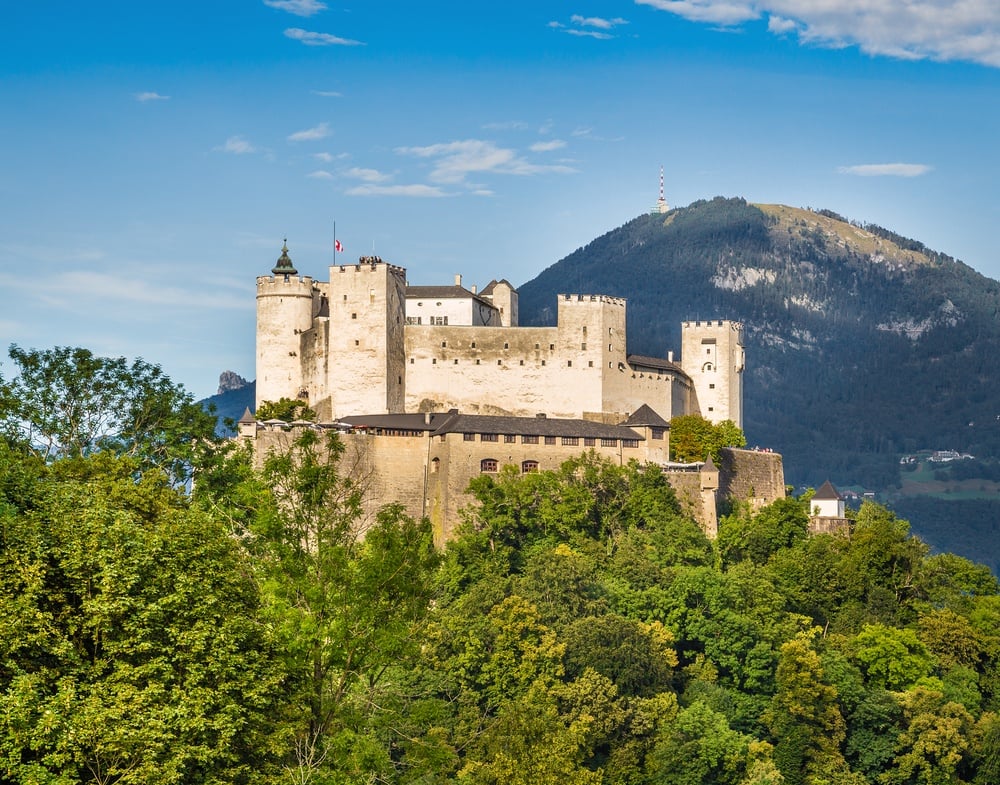
<svg viewBox="0 0 1000 785"><path fill-rule="evenodd" d="M681 325L681 368L694 382L696 411L743 427L743 325L726 319Z"/></svg>

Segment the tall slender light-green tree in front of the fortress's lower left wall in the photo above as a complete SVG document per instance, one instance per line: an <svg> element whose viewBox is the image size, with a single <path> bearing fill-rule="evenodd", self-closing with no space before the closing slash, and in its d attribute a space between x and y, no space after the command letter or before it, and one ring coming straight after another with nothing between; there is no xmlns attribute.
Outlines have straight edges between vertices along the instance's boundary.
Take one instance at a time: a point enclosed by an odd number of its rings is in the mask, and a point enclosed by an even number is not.
<svg viewBox="0 0 1000 785"><path fill-rule="evenodd" d="M343 449L337 434L306 430L266 458L271 490L248 546L291 689L284 766L301 783L338 769L387 775L388 744L371 720L388 702L388 674L419 652L438 564L429 523L401 507L362 525Z"/></svg>

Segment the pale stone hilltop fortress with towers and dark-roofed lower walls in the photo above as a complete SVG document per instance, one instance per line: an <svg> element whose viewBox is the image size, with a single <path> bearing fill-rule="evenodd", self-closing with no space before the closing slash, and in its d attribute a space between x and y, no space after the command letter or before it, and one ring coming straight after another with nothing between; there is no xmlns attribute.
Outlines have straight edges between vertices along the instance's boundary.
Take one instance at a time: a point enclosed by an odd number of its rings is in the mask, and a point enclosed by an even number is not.
<svg viewBox="0 0 1000 785"><path fill-rule="evenodd" d="M621 298L560 294L555 327L521 327L506 280L482 291L460 276L451 286L408 286L403 268L369 256L317 281L299 276L287 245L271 273L257 279L257 405L307 403L326 423L316 427L344 433L372 505L399 500L429 516L439 541L475 474L557 468L591 449L666 465L671 418L742 427L737 322L685 322L676 361L629 354ZM258 455L290 438L287 425L249 414L240 434ZM759 503L784 495L780 456L770 456L770 468L742 472L756 477L745 490ZM713 534L720 482L732 485L740 470L724 468L730 476L720 480L710 461L686 468L688 479L672 482L687 488L679 495Z"/></svg>

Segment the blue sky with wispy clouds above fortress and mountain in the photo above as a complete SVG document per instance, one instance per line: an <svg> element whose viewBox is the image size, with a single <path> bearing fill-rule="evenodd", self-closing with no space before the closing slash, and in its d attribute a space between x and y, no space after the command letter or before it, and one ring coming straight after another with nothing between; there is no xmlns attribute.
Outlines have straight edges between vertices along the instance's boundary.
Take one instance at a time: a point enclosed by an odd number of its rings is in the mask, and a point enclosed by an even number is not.
<svg viewBox="0 0 1000 785"><path fill-rule="evenodd" d="M666 198L1000 277L996 0L6 0L0 343L254 376L254 280L519 285ZM6 360L5 352L3 359ZM0 374L10 375L9 362Z"/></svg>

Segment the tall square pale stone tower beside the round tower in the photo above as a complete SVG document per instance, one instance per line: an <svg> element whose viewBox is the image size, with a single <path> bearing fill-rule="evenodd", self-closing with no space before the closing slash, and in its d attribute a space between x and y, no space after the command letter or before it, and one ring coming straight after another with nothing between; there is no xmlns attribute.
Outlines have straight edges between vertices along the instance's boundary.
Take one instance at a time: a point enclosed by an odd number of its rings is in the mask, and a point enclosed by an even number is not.
<svg viewBox="0 0 1000 785"><path fill-rule="evenodd" d="M327 390L335 417L396 414L406 402L406 271L377 256L330 268Z"/></svg>

